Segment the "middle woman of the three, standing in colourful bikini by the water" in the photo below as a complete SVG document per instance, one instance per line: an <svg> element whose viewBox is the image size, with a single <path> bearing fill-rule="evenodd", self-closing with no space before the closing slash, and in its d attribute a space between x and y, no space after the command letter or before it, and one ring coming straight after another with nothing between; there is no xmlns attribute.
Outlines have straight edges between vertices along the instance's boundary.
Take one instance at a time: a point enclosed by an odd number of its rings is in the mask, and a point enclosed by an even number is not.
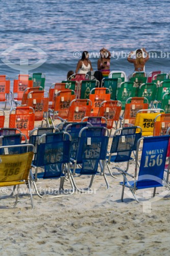
<svg viewBox="0 0 170 256"><path fill-rule="evenodd" d="M98 70L102 72L104 78L107 78L110 73L111 54L107 49L102 48L100 50L100 55L101 57L98 59Z"/></svg>

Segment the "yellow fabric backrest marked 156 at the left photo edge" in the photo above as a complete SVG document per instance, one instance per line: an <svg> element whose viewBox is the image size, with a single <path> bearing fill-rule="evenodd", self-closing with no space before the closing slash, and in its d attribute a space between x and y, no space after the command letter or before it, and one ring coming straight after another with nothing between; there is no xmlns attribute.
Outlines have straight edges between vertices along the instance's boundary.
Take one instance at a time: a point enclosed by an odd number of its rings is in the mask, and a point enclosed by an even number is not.
<svg viewBox="0 0 170 256"><path fill-rule="evenodd" d="M23 180L28 180L33 155L33 152L1 155L0 186L25 183Z"/></svg>

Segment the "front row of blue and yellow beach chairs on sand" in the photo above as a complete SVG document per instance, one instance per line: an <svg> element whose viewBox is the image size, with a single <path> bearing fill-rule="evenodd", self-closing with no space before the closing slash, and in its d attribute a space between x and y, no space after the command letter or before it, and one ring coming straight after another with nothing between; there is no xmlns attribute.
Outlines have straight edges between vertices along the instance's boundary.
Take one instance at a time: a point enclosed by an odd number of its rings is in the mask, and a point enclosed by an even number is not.
<svg viewBox="0 0 170 256"><path fill-rule="evenodd" d="M156 187L163 186L163 182L165 182L165 185L170 190L168 184L169 164L166 179L164 178L169 135L142 138L141 129L138 133L137 129L140 129L140 127L133 126L118 129L114 133L108 156L109 131L103 126L94 127L88 123L72 123L65 127L64 132L50 128L46 130L42 128L35 129L31 133L29 144L19 145L14 144L16 134L4 135L2 136L3 138L1 137L3 142L0 147L0 185L14 186L12 192L12 195L14 195L16 185L26 183L29 187L33 207L31 181L39 197L42 197L42 195L40 195L36 184L38 180L44 179L60 178L58 195L54 197L70 196L75 189L81 192L87 191L91 188L94 177L97 174L104 177L107 189L109 189L105 175L106 166L111 174L109 168L111 162L127 162L126 170L114 167L124 176L124 181L120 182L120 185L123 186L122 200L125 187L131 190L137 202L139 202L135 195L137 189L154 187L155 195ZM34 134L35 132L37 134ZM10 139L13 137L12 145L8 143L9 137ZM141 140L143 140L142 155L137 175L138 151ZM134 175L128 173L132 152L136 152ZM29 176L29 171L31 176ZM76 175L91 176L89 186L83 189L79 188L76 183ZM127 176L133 178L133 181L128 181ZM69 191L64 189L66 180L71 185ZM18 201L18 186L16 190L17 196L14 206ZM66 193L64 194L64 192Z"/></svg>

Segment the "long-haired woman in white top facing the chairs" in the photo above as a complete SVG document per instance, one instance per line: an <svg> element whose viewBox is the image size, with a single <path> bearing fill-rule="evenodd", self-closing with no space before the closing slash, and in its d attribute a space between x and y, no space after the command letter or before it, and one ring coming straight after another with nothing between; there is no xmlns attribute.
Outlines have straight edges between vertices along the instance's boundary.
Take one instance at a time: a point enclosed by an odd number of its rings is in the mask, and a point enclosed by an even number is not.
<svg viewBox="0 0 170 256"><path fill-rule="evenodd" d="M84 51L82 53L82 58L77 63L77 68L75 73L77 74L79 71L79 74L86 74L87 72L92 70L93 68L91 66L91 61L89 60L89 54L87 51Z"/></svg>

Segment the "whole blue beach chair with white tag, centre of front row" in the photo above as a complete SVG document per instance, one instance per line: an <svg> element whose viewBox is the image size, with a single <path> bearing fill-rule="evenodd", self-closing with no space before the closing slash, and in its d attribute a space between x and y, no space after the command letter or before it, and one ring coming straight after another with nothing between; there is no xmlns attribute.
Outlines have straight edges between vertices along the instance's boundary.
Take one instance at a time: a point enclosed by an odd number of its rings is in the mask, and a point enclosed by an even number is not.
<svg viewBox="0 0 170 256"><path fill-rule="evenodd" d="M104 133L104 131L106 131L106 133ZM80 131L74 166L70 169L71 179L78 191L86 192L89 190L93 183L94 176L97 174L103 174L107 189L109 189L105 175L108 140L109 131L106 127L84 127ZM98 171L99 166L101 172ZM78 188L76 175L78 175L79 179L81 176L91 176L89 186L87 188Z"/></svg>

